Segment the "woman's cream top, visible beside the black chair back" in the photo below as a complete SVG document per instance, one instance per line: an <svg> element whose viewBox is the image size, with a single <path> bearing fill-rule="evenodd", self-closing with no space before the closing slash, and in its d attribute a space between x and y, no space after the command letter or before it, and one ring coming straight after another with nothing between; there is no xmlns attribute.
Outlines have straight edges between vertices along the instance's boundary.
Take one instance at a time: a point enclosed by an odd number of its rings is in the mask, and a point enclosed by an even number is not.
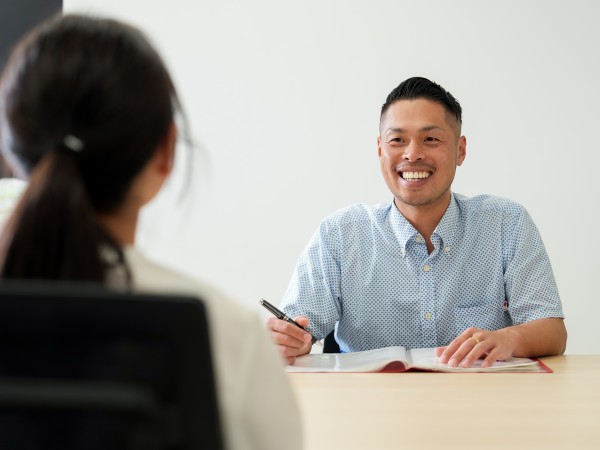
<svg viewBox="0 0 600 450"><path fill-rule="evenodd" d="M300 413L283 360L245 306L125 249L138 291L195 295L205 302L225 444L231 450L302 448Z"/></svg>

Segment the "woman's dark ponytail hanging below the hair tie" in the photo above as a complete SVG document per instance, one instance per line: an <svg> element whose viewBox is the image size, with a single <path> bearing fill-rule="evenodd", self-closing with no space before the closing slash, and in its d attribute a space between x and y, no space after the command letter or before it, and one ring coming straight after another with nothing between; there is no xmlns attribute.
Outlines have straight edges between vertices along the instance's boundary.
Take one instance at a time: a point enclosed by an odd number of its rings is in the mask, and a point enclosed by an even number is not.
<svg viewBox="0 0 600 450"><path fill-rule="evenodd" d="M47 153L0 237L0 276L104 282L109 265L101 256L121 250L98 223L77 167L77 154Z"/></svg>

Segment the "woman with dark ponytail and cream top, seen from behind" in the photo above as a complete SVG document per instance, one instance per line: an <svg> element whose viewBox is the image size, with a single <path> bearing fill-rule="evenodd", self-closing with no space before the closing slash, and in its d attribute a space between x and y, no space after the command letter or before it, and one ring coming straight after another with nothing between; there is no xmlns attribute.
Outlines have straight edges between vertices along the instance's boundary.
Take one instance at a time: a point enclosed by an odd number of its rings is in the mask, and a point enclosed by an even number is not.
<svg viewBox="0 0 600 450"><path fill-rule="evenodd" d="M281 436L301 448L295 399L258 318L134 248L140 209L171 173L178 107L161 58L131 26L67 15L27 35L0 80L2 152L28 179L2 231L0 276L197 295L228 448L280 449Z"/></svg>

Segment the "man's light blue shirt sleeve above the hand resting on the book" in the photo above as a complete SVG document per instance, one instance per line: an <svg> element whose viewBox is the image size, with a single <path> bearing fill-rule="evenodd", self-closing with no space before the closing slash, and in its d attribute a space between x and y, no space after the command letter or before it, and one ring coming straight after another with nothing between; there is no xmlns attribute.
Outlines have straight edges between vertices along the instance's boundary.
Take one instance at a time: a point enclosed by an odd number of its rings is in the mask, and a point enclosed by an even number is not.
<svg viewBox="0 0 600 450"><path fill-rule="evenodd" d="M513 323L563 318L550 259L537 227L524 208L508 221L505 237L504 279Z"/></svg>

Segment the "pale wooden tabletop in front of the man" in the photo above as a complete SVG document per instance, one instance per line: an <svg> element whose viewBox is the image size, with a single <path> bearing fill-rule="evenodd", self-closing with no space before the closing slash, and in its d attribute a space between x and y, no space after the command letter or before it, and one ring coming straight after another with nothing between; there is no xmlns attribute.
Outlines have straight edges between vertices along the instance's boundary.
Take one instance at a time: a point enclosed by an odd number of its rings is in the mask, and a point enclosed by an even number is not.
<svg viewBox="0 0 600 450"><path fill-rule="evenodd" d="M600 355L554 373L294 373L306 450L600 449Z"/></svg>

